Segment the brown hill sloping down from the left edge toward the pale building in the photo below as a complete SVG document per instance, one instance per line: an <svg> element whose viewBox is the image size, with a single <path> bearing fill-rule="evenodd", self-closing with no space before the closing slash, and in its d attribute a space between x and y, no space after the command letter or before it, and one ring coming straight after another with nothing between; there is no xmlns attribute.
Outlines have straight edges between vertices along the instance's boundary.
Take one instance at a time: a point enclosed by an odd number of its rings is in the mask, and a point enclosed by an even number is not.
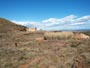
<svg viewBox="0 0 90 68"><path fill-rule="evenodd" d="M7 19L0 18L0 33L22 31L25 30L25 26L17 25Z"/></svg>

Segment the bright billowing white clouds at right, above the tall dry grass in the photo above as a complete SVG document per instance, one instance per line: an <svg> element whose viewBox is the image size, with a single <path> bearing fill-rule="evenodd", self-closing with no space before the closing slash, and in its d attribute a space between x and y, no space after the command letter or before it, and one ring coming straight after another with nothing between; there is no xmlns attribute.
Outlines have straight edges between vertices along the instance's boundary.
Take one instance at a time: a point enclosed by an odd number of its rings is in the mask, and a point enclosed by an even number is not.
<svg viewBox="0 0 90 68"><path fill-rule="evenodd" d="M48 23L49 26L54 26L54 25L71 25L71 26L76 26L76 25L84 25L86 23L90 23L90 16L83 16L78 18L75 15L69 15L64 18L49 18L47 20L42 21L44 23Z"/></svg>

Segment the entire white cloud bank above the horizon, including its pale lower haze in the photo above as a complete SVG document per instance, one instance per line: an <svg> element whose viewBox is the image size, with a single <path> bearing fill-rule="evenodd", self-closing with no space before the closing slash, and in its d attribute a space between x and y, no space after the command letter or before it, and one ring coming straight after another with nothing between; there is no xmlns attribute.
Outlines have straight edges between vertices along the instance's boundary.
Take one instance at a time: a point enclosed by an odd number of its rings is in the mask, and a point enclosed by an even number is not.
<svg viewBox="0 0 90 68"><path fill-rule="evenodd" d="M69 15L64 18L49 18L40 22L15 20L12 22L44 30L90 29L90 15L82 17Z"/></svg>

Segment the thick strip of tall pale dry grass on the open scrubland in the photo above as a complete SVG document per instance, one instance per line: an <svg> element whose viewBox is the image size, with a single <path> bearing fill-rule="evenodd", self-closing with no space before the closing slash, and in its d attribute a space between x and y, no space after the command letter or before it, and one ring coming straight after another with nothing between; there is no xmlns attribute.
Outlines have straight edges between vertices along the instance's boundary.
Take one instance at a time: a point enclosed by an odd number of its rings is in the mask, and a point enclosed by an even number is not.
<svg viewBox="0 0 90 68"><path fill-rule="evenodd" d="M46 32L44 34L45 39L69 39L73 38L74 33L73 32Z"/></svg>

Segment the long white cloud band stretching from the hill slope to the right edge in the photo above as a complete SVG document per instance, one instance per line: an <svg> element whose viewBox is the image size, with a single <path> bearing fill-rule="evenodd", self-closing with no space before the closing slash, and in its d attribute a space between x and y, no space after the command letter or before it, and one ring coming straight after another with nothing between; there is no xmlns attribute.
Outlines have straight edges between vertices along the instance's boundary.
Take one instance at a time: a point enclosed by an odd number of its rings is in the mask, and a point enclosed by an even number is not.
<svg viewBox="0 0 90 68"><path fill-rule="evenodd" d="M80 26L80 25L90 25L90 15L82 16L78 18L76 15L69 15L64 18L49 18L47 20L43 20L41 22L34 21L13 21L17 24L25 25L28 27L37 27L39 29L47 29L47 28L55 28L57 26ZM66 28L67 28L66 27Z"/></svg>

